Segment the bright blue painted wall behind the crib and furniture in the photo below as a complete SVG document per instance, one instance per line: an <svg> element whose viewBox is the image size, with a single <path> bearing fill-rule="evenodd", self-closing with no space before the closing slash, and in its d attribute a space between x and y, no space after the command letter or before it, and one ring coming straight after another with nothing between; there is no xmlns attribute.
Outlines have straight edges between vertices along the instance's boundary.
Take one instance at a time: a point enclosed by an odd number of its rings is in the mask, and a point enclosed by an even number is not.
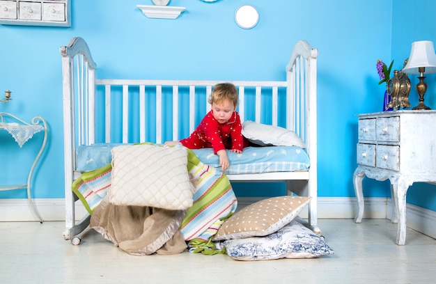
<svg viewBox="0 0 436 284"><path fill-rule="evenodd" d="M285 79L283 70L291 49L304 39L319 49L318 193L355 196L355 114L382 110L384 86L377 85L377 59L390 62L395 58L394 68L400 68L412 41L435 40L430 11L436 3L421 0L417 6L415 2L172 0L171 6L187 8L178 19L148 19L136 6L150 4L150 0L72 1L70 28L0 25L0 90L13 91L13 101L0 104L0 111L26 119L36 115L47 119L48 150L34 180L33 197L62 198L59 47L67 45L70 38L81 36L88 42L99 78L223 81ZM260 13L254 29L240 29L234 22L236 8L244 3L256 6ZM423 15L428 15L427 22L420 22ZM435 93L434 78L428 76L428 93ZM412 97L413 92L411 101ZM426 97L433 108L435 100ZM18 151L8 134L0 133L0 184L26 177L22 161L15 162L16 155L33 150L34 141ZM243 190L244 184L235 187ZM417 184L413 188L408 201L436 210L435 198L419 198L433 187ZM364 189L366 196L390 194L387 182L365 179ZM0 193L0 198L24 196L24 191Z"/></svg>

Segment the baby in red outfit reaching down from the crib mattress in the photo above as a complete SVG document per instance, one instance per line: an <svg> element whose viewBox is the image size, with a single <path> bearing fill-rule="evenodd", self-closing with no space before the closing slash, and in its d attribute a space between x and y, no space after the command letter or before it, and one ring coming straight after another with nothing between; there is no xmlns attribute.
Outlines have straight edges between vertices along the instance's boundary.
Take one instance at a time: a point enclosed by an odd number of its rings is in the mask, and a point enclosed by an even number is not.
<svg viewBox="0 0 436 284"><path fill-rule="evenodd" d="M241 120L236 112L238 90L230 83L217 84L212 90L209 103L211 110L188 138L166 142L165 145L180 142L189 149L213 148L219 156L221 171L224 172L229 164L226 149L240 154L249 144L241 134Z"/></svg>

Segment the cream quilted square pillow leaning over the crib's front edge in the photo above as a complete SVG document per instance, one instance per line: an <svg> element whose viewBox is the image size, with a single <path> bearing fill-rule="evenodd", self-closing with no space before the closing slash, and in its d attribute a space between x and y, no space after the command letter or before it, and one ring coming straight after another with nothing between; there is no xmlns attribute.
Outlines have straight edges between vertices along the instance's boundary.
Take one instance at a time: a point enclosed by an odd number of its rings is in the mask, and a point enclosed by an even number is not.
<svg viewBox="0 0 436 284"><path fill-rule="evenodd" d="M109 202L185 210L192 206L186 148L120 145L112 149Z"/></svg>

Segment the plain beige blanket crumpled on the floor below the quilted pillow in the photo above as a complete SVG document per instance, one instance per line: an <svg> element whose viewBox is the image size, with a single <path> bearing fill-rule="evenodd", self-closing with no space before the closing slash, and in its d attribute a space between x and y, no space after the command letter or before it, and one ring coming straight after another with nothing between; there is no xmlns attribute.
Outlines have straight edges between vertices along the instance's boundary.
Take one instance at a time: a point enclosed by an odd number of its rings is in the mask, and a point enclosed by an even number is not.
<svg viewBox="0 0 436 284"><path fill-rule="evenodd" d="M131 255L176 254L187 248L179 230L186 210L122 206L106 196L91 216L91 228Z"/></svg>

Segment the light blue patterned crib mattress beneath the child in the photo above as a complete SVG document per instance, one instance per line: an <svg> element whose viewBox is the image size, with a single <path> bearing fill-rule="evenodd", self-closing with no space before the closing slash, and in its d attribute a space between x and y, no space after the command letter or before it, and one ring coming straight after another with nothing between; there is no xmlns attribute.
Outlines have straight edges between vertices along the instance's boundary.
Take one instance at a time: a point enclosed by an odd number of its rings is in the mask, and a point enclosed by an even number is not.
<svg viewBox="0 0 436 284"><path fill-rule="evenodd" d="M77 148L76 171L93 171L106 166L112 160L111 149L120 143L96 143ZM220 169L219 157L211 148L193 150L203 164ZM306 150L297 146L247 147L242 154L227 152L230 166L228 175L248 173L273 173L309 171L310 161Z"/></svg>

